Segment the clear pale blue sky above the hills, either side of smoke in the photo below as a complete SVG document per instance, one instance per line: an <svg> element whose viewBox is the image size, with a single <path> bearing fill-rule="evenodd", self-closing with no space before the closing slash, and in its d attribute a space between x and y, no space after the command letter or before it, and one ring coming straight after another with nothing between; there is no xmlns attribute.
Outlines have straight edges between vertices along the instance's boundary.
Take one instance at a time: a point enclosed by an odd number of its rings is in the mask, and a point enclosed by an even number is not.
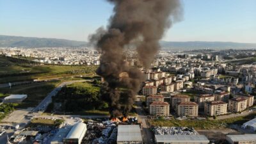
<svg viewBox="0 0 256 144"><path fill-rule="evenodd" d="M183 19L162 40L256 43L255 0L181 1ZM105 0L0 0L0 35L88 41L112 10Z"/></svg>

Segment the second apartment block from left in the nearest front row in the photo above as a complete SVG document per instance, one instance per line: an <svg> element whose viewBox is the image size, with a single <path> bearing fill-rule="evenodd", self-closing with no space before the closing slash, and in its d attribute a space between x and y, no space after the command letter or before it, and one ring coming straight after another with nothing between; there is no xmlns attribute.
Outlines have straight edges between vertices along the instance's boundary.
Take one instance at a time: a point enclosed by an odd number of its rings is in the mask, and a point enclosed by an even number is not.
<svg viewBox="0 0 256 144"><path fill-rule="evenodd" d="M180 102L177 104L177 115L198 116L198 104L196 102Z"/></svg>

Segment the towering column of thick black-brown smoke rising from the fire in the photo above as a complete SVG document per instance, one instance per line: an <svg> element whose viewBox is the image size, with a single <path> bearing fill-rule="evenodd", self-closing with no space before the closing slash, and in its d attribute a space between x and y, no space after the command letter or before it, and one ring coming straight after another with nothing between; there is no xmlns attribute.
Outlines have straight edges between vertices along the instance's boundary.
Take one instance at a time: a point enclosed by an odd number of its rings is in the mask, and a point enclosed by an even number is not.
<svg viewBox="0 0 256 144"><path fill-rule="evenodd" d="M150 66L159 50L164 31L180 20L179 0L108 0L115 4L108 29L100 28L90 37L102 52L99 76L104 77L102 95L109 102L111 116L125 115L132 108L134 95L140 89L144 76L125 65L124 47L136 42L138 59L145 68ZM120 81L120 73L129 77Z"/></svg>

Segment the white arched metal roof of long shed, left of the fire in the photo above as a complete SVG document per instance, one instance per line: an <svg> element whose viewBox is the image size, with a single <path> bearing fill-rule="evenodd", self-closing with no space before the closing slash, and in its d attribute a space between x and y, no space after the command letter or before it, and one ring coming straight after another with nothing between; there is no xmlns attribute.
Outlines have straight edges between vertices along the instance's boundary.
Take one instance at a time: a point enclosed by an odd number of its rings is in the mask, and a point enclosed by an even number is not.
<svg viewBox="0 0 256 144"><path fill-rule="evenodd" d="M68 132L68 135L66 136L65 139L81 138L81 135L83 134L84 129L86 131L86 124L82 122L75 124L70 130L70 132Z"/></svg>

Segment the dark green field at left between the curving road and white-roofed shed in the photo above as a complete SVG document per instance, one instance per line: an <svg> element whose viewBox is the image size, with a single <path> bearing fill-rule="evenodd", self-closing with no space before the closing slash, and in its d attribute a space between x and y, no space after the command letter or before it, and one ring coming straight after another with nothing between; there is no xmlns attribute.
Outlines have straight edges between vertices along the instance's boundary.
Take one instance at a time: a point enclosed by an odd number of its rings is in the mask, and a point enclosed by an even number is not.
<svg viewBox="0 0 256 144"><path fill-rule="evenodd" d="M25 99L16 108L29 108L37 106L61 81L51 81L44 83L24 84L13 86L13 88L0 88L0 95L8 96L10 94L26 94Z"/></svg>

